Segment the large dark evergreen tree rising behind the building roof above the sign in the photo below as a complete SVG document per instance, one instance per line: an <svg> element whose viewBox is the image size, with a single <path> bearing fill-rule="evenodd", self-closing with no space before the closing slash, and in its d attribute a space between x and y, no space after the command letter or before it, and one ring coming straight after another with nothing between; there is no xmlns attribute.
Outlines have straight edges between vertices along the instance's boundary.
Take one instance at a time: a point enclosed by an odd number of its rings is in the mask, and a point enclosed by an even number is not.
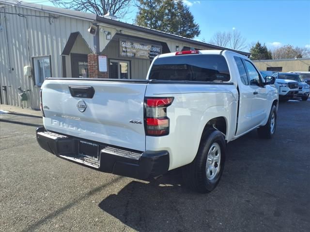
<svg viewBox="0 0 310 232"><path fill-rule="evenodd" d="M181 0L139 0L139 3L137 25L187 38L200 34L194 16Z"/></svg>

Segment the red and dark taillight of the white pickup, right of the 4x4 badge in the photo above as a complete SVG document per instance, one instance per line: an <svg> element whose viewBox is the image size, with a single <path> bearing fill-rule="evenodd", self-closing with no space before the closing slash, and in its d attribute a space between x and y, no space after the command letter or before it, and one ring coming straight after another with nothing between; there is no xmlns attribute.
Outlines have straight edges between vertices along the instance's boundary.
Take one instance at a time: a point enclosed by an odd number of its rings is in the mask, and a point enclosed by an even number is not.
<svg viewBox="0 0 310 232"><path fill-rule="evenodd" d="M167 107L173 102L173 97L145 98L145 134L163 136L169 134L169 117Z"/></svg>

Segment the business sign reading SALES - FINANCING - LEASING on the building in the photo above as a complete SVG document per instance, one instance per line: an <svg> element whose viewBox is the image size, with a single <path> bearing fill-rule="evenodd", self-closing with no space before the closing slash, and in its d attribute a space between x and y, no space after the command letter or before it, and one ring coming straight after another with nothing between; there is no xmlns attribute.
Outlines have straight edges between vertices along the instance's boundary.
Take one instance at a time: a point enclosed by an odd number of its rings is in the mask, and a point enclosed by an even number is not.
<svg viewBox="0 0 310 232"><path fill-rule="evenodd" d="M128 40L120 40L121 57L154 59L161 54L162 46L140 43Z"/></svg>

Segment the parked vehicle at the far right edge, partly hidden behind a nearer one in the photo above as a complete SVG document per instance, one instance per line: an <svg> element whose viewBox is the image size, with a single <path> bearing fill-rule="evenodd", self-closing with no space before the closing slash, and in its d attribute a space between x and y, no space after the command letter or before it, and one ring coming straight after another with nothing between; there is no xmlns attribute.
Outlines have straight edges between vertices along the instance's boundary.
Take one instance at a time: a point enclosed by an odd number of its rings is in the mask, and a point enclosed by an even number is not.
<svg viewBox="0 0 310 232"><path fill-rule="evenodd" d="M279 79L294 80L298 82L298 93L295 97L300 97L302 101L307 101L310 94L310 87L302 79L301 75L295 72L290 73L279 73Z"/></svg>

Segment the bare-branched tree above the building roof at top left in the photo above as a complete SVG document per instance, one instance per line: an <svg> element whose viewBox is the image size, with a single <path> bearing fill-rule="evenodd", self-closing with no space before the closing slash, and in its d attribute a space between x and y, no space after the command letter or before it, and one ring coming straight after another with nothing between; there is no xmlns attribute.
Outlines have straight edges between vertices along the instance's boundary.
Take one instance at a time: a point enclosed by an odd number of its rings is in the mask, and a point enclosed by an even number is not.
<svg viewBox="0 0 310 232"><path fill-rule="evenodd" d="M50 0L55 6L103 16L108 12L119 18L128 13L132 0Z"/></svg>

